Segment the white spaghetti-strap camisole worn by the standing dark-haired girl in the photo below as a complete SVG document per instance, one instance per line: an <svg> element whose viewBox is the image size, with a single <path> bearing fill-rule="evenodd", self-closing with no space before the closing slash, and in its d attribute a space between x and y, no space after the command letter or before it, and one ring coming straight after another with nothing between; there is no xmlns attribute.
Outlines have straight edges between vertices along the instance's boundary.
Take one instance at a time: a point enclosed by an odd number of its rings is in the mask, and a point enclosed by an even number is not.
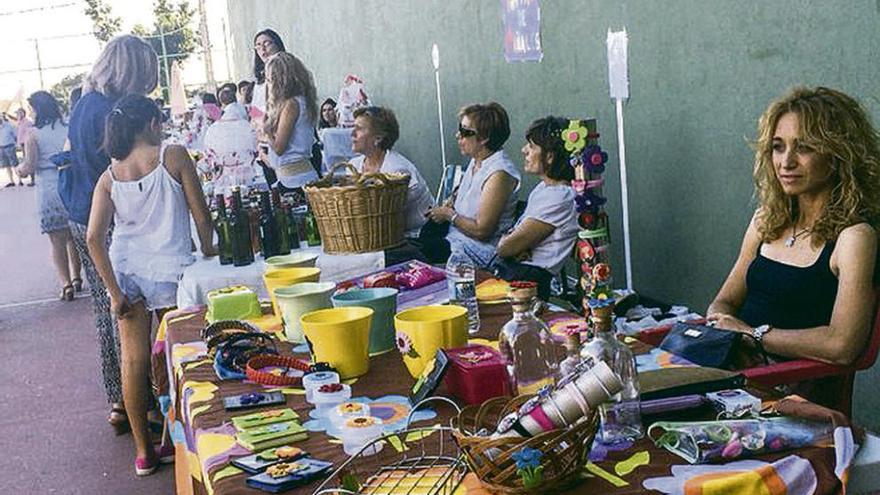
<svg viewBox="0 0 880 495"><path fill-rule="evenodd" d="M154 282L177 282L195 261L189 207L183 186L165 168L165 144L152 172L136 181L118 181L110 167L113 242L110 261L118 273Z"/></svg>

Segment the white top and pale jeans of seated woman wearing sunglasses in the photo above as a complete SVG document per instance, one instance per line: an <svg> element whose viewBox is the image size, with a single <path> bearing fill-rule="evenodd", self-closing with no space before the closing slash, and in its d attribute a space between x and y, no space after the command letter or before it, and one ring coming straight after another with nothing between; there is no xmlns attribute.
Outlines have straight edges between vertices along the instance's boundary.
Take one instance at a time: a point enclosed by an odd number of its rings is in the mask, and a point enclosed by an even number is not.
<svg viewBox="0 0 880 495"><path fill-rule="evenodd" d="M476 218L480 209L480 196L483 193L483 186L486 181L495 172L504 172L516 180L516 187L510 193L504 203L504 210L501 211L501 217L498 219L498 227L489 238L488 241L478 241L473 237L469 237L464 232L458 230L454 225L449 226L449 234L446 240L449 241L449 247L453 252L463 252L467 254L471 260L480 267L486 267L495 256L495 247L501 236L513 225L516 214L516 201L519 193L520 179L519 170L507 157L504 150L498 150L483 160L480 170L474 172L474 160L471 159L467 171L461 178L461 184L458 187L458 194L455 197L455 211L467 218Z"/></svg>

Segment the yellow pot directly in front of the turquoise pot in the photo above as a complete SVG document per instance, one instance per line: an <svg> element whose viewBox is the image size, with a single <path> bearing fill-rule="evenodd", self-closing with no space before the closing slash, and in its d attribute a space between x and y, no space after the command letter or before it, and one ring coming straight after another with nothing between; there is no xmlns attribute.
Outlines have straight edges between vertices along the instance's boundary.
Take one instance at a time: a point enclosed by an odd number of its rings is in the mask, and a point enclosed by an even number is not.
<svg viewBox="0 0 880 495"><path fill-rule="evenodd" d="M373 310L360 306L319 309L300 317L312 359L330 363L342 379L369 371L372 321Z"/></svg>

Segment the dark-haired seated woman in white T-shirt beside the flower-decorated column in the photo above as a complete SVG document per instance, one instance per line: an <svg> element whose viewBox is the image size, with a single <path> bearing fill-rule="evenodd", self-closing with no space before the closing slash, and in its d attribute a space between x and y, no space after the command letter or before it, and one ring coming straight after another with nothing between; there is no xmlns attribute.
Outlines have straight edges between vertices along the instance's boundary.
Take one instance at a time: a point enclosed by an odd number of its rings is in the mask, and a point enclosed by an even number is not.
<svg viewBox="0 0 880 495"><path fill-rule="evenodd" d="M513 230L498 242L493 263L505 280L530 280L538 284L538 296L550 297L550 281L571 256L577 236L577 211L571 180L574 169L560 137L568 120L538 119L526 131L522 148L527 174L541 182L532 189L526 210Z"/></svg>

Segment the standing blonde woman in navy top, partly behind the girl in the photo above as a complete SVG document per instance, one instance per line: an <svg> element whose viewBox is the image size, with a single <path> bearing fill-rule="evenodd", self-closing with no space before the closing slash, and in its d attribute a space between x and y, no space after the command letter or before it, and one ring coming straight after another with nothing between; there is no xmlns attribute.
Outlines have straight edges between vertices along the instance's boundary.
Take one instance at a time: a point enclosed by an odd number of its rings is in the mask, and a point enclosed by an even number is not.
<svg viewBox="0 0 880 495"><path fill-rule="evenodd" d="M119 333L110 315L110 299L86 247L92 193L98 178L110 165L103 148L104 125L113 104L125 95L146 95L156 88L158 58L150 45L136 36L110 40L83 84L83 96L70 117L68 141L71 163L59 174L58 193L70 216L70 232L85 268L95 326L101 349L104 389L111 403L110 424L118 433L128 429L122 404L119 371ZM109 239L109 236L108 236Z"/></svg>

